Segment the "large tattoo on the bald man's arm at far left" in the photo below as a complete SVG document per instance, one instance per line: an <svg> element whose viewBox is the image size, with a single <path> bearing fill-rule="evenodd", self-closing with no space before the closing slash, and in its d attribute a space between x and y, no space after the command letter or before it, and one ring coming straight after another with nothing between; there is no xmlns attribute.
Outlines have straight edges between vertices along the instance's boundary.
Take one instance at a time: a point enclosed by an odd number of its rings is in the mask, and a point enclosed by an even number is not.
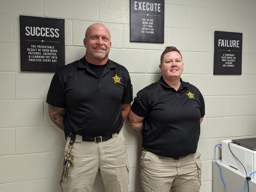
<svg viewBox="0 0 256 192"><path fill-rule="evenodd" d="M48 105L49 116L51 121L57 125L61 130L64 130L64 111L65 108L59 108L52 105Z"/></svg>

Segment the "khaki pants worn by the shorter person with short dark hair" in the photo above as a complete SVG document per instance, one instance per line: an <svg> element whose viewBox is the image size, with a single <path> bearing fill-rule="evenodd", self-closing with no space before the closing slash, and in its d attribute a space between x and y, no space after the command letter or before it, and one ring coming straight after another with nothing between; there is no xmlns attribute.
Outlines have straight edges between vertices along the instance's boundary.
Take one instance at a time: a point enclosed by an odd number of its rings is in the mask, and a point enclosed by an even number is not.
<svg viewBox="0 0 256 192"><path fill-rule="evenodd" d="M197 151L178 160L141 152L141 191L198 192L201 186L201 154Z"/></svg>

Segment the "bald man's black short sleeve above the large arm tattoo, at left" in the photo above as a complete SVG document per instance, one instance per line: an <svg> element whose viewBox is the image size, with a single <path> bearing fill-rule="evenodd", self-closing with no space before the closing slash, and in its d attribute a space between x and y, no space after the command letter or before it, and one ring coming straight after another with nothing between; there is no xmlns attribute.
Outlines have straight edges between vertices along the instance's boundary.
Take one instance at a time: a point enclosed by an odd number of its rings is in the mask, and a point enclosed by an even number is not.
<svg viewBox="0 0 256 192"><path fill-rule="evenodd" d="M46 102L55 107L64 108L66 106L65 95L62 90L62 84L59 80L57 72L54 74L53 79L51 80Z"/></svg>

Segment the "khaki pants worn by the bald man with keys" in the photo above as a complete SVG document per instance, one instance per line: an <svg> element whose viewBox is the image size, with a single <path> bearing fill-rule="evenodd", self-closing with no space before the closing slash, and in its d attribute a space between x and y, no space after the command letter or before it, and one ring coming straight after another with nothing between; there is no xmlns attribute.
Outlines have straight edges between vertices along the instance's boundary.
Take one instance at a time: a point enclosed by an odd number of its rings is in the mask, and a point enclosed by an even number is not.
<svg viewBox="0 0 256 192"><path fill-rule="evenodd" d="M65 154L69 150L67 139ZM125 138L122 133L102 143L82 141L76 136L71 150L75 166L70 164L69 177L61 183L62 191L90 192L98 170L108 192L128 192L129 164Z"/></svg>

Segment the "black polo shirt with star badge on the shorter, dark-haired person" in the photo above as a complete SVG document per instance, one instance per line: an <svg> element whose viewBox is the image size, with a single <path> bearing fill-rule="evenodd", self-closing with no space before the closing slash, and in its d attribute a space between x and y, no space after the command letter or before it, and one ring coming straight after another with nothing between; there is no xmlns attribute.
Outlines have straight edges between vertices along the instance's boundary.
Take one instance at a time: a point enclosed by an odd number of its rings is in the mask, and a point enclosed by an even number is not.
<svg viewBox="0 0 256 192"><path fill-rule="evenodd" d="M183 82L176 91L163 76L137 93L131 110L143 120L142 147L167 157L195 153L205 103L200 91Z"/></svg>

